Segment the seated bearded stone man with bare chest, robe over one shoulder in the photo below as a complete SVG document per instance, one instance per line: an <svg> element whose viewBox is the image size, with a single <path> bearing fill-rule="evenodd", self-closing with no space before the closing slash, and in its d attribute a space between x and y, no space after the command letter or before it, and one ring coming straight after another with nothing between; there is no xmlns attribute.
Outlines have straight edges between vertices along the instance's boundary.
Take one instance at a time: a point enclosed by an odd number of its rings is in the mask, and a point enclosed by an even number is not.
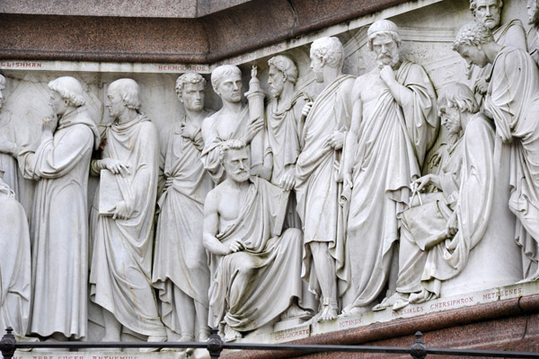
<svg viewBox="0 0 539 359"><path fill-rule="evenodd" d="M271 325L283 314L301 315L302 232L281 233L287 192L250 177L249 153L241 140L221 145L226 180L208 193L204 206L204 246L209 253L210 327L225 341Z"/></svg>

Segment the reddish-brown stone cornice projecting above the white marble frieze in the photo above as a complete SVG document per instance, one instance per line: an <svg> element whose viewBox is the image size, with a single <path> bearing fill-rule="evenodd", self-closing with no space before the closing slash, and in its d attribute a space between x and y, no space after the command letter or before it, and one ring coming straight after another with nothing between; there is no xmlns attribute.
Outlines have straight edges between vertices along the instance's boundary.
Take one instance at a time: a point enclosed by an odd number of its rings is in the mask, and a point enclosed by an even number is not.
<svg viewBox="0 0 539 359"><path fill-rule="evenodd" d="M0 58L208 64L408 1L208 0L193 10L194 2L163 9L161 17L154 3L144 16L114 17L106 9L97 13L89 5L84 12L67 4L63 13L73 14L57 15L50 6L71 3L62 0L14 13L14 2L6 1L0 6ZM182 11L183 17L171 16Z"/></svg>

